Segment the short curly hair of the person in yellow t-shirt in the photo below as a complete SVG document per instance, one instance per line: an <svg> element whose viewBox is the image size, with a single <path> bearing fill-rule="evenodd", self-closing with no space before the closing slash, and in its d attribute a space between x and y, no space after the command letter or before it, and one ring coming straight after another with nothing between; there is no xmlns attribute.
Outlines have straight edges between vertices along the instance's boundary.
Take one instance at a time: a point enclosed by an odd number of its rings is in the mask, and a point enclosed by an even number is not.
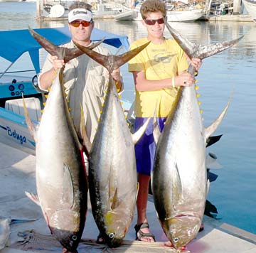
<svg viewBox="0 0 256 253"><path fill-rule="evenodd" d="M161 12L164 18L166 17L166 4L161 0L146 0L142 4L140 13L142 14L142 19L146 19L146 14L149 12Z"/></svg>

